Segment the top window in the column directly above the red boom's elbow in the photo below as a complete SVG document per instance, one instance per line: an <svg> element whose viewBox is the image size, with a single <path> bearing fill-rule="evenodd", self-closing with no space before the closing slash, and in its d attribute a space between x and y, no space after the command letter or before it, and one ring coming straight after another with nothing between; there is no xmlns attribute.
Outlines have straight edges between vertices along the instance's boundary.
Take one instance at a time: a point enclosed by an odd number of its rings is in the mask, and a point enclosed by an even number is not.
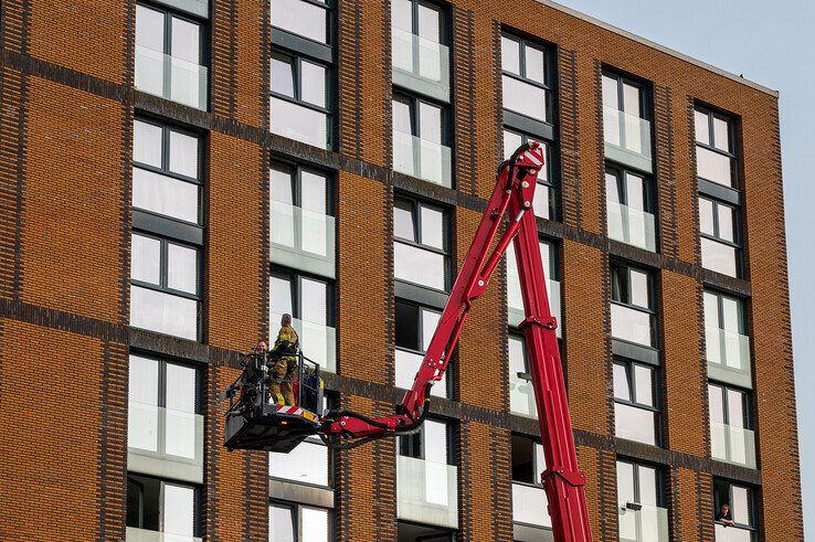
<svg viewBox="0 0 815 542"><path fill-rule="evenodd" d="M543 46L510 34L501 35L504 108L552 123L549 59Z"/></svg>

